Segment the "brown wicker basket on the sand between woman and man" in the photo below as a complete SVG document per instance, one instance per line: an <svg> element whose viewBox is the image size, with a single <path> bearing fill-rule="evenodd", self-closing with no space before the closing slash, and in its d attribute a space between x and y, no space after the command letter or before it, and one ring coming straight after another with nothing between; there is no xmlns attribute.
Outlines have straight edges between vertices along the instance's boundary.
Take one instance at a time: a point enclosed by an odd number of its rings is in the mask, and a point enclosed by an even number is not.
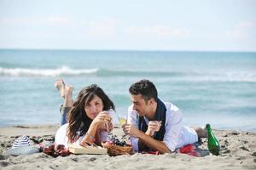
<svg viewBox="0 0 256 170"><path fill-rule="evenodd" d="M119 146L114 144L106 144L102 142L103 148L108 149L109 156L120 156L120 155L131 155L132 154L132 146L130 144L126 144L126 146Z"/></svg>

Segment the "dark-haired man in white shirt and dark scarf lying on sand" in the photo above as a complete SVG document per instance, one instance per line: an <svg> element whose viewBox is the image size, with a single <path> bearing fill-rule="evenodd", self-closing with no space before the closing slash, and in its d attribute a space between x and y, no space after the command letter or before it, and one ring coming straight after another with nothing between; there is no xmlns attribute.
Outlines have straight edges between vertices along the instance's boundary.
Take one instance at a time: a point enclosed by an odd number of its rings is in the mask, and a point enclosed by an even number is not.
<svg viewBox="0 0 256 170"><path fill-rule="evenodd" d="M127 123L122 127L131 136L133 150L169 153L207 137L207 131L201 127L182 125L181 111L158 98L153 82L141 80L132 84L129 91L132 105L128 109Z"/></svg>

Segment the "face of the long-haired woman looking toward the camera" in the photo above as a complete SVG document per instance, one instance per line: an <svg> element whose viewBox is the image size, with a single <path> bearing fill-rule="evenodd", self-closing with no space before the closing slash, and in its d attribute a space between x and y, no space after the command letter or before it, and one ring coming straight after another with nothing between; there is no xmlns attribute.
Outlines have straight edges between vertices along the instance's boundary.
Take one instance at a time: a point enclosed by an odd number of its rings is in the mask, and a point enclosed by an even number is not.
<svg viewBox="0 0 256 170"><path fill-rule="evenodd" d="M89 103L84 105L84 111L86 115L93 120L101 111L103 111L102 99L95 95Z"/></svg>

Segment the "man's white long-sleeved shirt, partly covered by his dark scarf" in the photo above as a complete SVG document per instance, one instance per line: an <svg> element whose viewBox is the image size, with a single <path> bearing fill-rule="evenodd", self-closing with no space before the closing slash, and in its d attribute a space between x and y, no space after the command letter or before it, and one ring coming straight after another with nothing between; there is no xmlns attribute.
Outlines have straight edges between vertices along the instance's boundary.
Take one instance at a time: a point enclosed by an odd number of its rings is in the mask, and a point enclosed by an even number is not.
<svg viewBox="0 0 256 170"><path fill-rule="evenodd" d="M197 142L198 137L194 129L190 127L184 127L182 125L183 115L176 105L172 105L170 102L164 102L166 105L166 133L164 135L163 142L169 148L174 151L177 148L186 144L193 144ZM128 109L128 120L134 126L137 127L137 111L132 110L131 105ZM148 124L148 118L144 117L145 122ZM131 144L134 151L138 150L138 139L131 137Z"/></svg>

